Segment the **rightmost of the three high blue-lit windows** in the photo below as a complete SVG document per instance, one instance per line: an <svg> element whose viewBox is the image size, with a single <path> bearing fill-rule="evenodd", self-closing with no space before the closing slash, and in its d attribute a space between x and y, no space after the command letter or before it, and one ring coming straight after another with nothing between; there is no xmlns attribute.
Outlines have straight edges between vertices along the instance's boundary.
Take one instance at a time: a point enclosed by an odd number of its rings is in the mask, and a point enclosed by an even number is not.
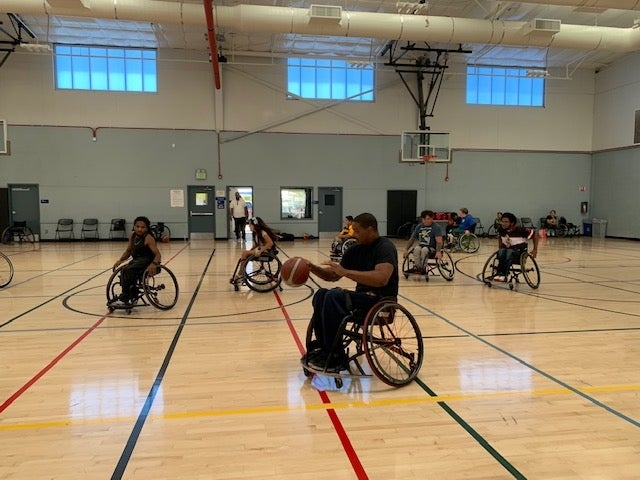
<svg viewBox="0 0 640 480"><path fill-rule="evenodd" d="M543 107L544 71L514 67L467 67L467 103Z"/></svg>

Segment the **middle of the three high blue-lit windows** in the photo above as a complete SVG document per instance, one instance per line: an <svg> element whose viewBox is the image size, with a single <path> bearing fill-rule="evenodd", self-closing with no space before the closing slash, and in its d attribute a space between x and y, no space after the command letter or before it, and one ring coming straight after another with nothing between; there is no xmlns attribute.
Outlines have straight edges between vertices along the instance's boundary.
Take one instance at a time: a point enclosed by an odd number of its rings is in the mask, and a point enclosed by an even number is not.
<svg viewBox="0 0 640 480"><path fill-rule="evenodd" d="M351 65L344 60L290 58L287 61L290 96L317 100L372 102L373 65Z"/></svg>

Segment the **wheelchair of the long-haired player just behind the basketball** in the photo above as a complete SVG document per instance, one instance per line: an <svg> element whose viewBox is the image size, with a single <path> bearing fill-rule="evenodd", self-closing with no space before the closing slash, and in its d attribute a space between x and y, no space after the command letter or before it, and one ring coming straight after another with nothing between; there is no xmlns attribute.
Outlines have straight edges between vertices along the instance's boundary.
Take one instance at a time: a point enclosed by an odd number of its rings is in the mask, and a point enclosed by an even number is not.
<svg viewBox="0 0 640 480"><path fill-rule="evenodd" d="M242 263L244 261L244 268ZM280 269L282 262L278 258L277 250L267 250L259 255L250 255L246 260L238 259L236 268L229 283L237 292L240 285L246 285L255 292L270 292L280 286ZM239 272L242 270L242 272Z"/></svg>

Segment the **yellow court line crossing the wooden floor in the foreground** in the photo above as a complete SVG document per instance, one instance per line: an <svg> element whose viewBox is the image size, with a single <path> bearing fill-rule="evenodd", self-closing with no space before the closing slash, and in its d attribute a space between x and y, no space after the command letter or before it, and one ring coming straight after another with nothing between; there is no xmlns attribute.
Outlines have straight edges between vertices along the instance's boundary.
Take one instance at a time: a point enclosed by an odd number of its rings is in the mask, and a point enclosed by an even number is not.
<svg viewBox="0 0 640 480"><path fill-rule="evenodd" d="M603 392L631 392L640 390L640 385L604 385L599 387L583 387L576 389L582 393L603 393ZM522 397L522 396L546 396L546 395L568 395L574 393L565 388L553 388L545 390L533 391L513 391L513 392L492 392L492 393L473 393L473 394L451 394L440 395L437 397L408 397L408 398L389 398L381 400L369 401L348 401L335 403L311 403L308 405L277 405L272 407L252 407L252 408L233 408L225 410L209 410L199 412L180 412L180 413L161 413L150 414L148 420L178 420L185 418L204 418L204 417L221 417L233 415L252 415L265 413L295 412L295 411L311 411L311 410L335 410L346 408L363 408L363 407L384 407L396 405L411 405L420 403L438 403L438 402L459 402L469 400L483 400L490 398L504 397ZM60 428L81 425L99 425L114 423L132 423L136 421L136 417L103 417L86 420L58 420L52 422L33 422L33 423L16 423L16 424L0 424L0 431L11 430L28 430L40 428Z"/></svg>

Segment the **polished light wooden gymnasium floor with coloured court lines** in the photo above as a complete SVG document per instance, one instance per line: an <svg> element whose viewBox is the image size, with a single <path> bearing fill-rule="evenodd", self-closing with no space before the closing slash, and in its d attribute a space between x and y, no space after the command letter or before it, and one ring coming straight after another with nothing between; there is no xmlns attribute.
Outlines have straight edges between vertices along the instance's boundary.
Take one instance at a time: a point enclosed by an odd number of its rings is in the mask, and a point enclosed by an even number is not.
<svg viewBox="0 0 640 480"><path fill-rule="evenodd" d="M514 291L477 279L495 243L401 277L418 381L339 391L299 365L318 283L234 292L236 241L161 244L178 304L130 315L105 307L124 243L2 246L0 478L640 478L640 243L543 240Z"/></svg>

